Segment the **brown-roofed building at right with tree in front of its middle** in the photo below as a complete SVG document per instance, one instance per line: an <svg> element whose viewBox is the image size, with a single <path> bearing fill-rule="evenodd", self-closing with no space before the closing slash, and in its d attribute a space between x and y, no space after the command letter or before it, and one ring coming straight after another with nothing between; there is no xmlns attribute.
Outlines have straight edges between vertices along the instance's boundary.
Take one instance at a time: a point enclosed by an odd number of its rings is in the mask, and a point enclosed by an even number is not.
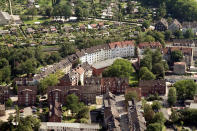
<svg viewBox="0 0 197 131"><path fill-rule="evenodd" d="M185 62L187 66L193 65L193 49L188 47L166 47L163 49L163 57L166 61L171 61L171 53L173 51L181 51L183 54L182 62Z"/></svg>

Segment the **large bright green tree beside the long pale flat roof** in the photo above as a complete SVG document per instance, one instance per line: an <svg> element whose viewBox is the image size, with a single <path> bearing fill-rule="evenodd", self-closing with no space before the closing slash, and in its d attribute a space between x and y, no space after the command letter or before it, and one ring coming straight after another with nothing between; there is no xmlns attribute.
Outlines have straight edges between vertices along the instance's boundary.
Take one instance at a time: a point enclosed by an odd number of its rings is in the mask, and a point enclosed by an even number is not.
<svg viewBox="0 0 197 131"><path fill-rule="evenodd" d="M104 77L129 77L134 69L131 63L125 59L117 59L104 72Z"/></svg>

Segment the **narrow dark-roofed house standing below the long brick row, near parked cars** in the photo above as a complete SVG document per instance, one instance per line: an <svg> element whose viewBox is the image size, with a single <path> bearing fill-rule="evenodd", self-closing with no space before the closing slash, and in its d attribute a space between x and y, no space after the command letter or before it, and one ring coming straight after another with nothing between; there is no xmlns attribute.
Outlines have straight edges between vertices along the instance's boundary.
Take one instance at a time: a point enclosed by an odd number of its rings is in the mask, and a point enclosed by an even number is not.
<svg viewBox="0 0 197 131"><path fill-rule="evenodd" d="M49 105L49 122L61 122L62 112L61 104L55 101L55 103Z"/></svg>

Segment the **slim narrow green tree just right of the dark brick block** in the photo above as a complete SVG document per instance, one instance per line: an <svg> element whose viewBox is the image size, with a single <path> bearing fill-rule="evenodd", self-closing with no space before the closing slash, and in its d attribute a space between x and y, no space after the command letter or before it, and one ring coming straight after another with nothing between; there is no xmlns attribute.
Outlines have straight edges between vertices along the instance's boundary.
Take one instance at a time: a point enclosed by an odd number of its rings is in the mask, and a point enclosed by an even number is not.
<svg viewBox="0 0 197 131"><path fill-rule="evenodd" d="M173 106L176 103L176 88L172 87L169 89L169 93L168 93L168 104L169 106Z"/></svg>

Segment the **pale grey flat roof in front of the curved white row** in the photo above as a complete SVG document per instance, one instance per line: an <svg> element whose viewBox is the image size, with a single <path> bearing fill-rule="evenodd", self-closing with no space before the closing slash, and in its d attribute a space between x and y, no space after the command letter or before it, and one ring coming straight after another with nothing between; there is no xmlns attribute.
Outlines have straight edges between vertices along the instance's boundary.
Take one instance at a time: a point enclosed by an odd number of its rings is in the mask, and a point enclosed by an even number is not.
<svg viewBox="0 0 197 131"><path fill-rule="evenodd" d="M113 58L113 59L108 59L108 60L105 60L105 61L101 61L101 62L93 64L92 67L95 68L95 69L102 69L102 68L111 66L114 63L114 61L117 60L117 59L122 59L122 58L121 57L116 57L116 58Z"/></svg>

